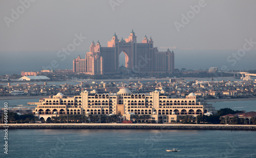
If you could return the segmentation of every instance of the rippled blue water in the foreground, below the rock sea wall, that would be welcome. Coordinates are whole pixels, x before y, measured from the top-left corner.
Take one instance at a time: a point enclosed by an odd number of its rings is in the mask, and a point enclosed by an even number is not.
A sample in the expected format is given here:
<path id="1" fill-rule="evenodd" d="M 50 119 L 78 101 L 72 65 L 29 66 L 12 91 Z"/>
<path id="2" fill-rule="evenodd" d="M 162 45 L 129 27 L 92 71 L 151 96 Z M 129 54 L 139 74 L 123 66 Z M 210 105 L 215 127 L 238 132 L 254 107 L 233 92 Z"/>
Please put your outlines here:
<path id="1" fill-rule="evenodd" d="M 255 157 L 255 131 L 9 130 L 0 157 Z M 4 142 L 0 133 L 0 142 Z M 180 152 L 166 152 L 178 148 Z"/>

